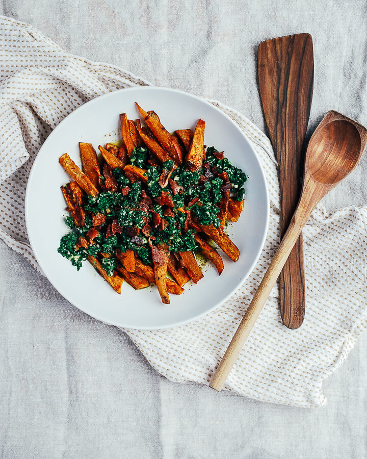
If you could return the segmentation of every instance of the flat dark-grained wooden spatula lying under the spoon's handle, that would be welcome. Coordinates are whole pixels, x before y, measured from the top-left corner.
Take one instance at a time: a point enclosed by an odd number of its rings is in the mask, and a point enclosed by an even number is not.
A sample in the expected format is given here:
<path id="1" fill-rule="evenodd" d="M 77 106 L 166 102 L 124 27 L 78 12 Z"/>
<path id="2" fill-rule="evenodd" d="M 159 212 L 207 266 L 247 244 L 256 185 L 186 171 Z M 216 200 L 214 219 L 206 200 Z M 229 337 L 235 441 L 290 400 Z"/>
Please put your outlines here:
<path id="1" fill-rule="evenodd" d="M 313 90 L 313 47 L 309 34 L 260 43 L 257 71 L 261 103 L 278 160 L 280 232 L 284 236 L 301 192 L 302 144 Z M 305 312 L 302 234 L 280 274 L 280 314 L 284 325 L 298 328 Z"/>

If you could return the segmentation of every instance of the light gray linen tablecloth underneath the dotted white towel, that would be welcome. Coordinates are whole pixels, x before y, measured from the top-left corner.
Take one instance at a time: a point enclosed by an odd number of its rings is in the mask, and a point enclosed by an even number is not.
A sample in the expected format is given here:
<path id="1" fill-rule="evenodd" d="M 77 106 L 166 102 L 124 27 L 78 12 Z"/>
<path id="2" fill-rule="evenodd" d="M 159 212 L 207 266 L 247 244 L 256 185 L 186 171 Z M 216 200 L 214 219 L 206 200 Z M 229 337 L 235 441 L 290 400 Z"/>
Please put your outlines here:
<path id="1" fill-rule="evenodd" d="M 313 37 L 310 128 L 329 109 L 367 124 L 367 5 L 352 2 L 3 1 L 65 50 L 152 84 L 221 100 L 264 129 L 260 41 Z M 365 205 L 367 157 L 324 200 Z M 120 330 L 67 303 L 0 242 L 0 456 L 367 457 L 367 336 L 317 410 L 270 405 L 156 373 Z M 62 377 L 60 377 L 62 375 Z"/>

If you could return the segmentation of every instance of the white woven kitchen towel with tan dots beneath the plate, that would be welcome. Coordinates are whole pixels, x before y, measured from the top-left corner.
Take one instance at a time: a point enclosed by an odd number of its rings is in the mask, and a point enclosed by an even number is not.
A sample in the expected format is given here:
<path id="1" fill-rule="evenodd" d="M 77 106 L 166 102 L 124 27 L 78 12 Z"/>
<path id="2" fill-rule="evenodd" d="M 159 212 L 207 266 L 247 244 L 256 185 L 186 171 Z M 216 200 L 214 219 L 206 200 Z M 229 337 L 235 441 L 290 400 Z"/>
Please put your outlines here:
<path id="1" fill-rule="evenodd" d="M 0 17 L 0 237 L 39 269 L 24 223 L 24 192 L 47 135 L 87 100 L 147 85 L 115 66 L 65 53 L 31 25 Z M 267 175 L 271 214 L 253 273 L 229 301 L 187 325 L 124 330 L 150 364 L 173 381 L 208 384 L 279 243 L 279 187 L 271 144 L 246 117 L 216 101 L 244 131 Z M 261 312 L 225 389 L 295 406 L 326 403 L 322 382 L 367 327 L 367 208 L 327 214 L 319 206 L 304 230 L 307 313 L 302 327 L 281 323 L 278 290 Z"/>

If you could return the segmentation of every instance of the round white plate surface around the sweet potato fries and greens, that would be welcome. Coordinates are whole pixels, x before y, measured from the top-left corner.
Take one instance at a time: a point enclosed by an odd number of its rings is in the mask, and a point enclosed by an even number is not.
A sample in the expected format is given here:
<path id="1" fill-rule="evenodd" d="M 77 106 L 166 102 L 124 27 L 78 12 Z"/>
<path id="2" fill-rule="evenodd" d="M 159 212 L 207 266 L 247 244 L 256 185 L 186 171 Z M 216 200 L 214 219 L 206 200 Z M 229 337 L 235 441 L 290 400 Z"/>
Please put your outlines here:
<path id="1" fill-rule="evenodd" d="M 58 252 L 67 233 L 65 201 L 60 187 L 69 176 L 59 164 L 67 152 L 81 165 L 78 142 L 99 144 L 120 139 L 119 114 L 138 118 L 135 101 L 145 110 L 155 110 L 168 131 L 195 127 L 205 120 L 204 143 L 214 145 L 249 176 L 245 208 L 237 223 L 226 232 L 240 249 L 240 259 L 231 262 L 223 254 L 224 271 L 218 276 L 209 263 L 204 278 L 185 286 L 182 295 L 170 295 L 162 304 L 158 290 L 135 291 L 126 282 L 121 295 L 84 262 L 80 271 Z M 191 94 L 167 88 L 122 89 L 97 97 L 72 112 L 49 135 L 33 164 L 25 196 L 25 219 L 32 249 L 44 274 L 68 301 L 106 323 L 141 329 L 168 328 L 194 320 L 226 301 L 243 284 L 263 248 L 269 219 L 269 197 L 264 172 L 250 143 L 221 110 Z"/>

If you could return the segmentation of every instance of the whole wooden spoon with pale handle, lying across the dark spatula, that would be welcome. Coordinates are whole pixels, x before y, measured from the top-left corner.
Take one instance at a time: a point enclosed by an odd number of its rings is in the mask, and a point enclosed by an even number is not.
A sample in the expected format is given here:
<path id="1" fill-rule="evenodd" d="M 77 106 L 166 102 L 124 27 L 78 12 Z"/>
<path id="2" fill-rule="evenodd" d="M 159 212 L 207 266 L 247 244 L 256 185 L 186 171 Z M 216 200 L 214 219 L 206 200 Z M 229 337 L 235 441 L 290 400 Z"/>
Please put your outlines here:
<path id="1" fill-rule="evenodd" d="M 297 209 L 257 292 L 226 350 L 210 387 L 220 391 L 261 309 L 320 199 L 357 166 L 367 142 L 367 130 L 346 116 L 328 112 L 313 133 L 306 151 L 303 187 Z"/>

